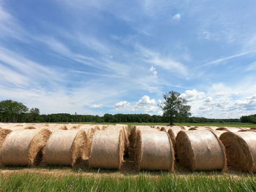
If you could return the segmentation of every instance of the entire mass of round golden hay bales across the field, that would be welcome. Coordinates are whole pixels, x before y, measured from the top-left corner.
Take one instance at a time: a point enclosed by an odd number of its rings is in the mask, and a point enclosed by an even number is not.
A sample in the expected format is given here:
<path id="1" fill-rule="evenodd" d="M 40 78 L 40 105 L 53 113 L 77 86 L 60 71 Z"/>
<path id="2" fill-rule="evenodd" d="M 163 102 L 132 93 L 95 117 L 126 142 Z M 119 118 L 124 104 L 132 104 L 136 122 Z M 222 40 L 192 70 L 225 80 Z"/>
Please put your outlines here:
<path id="1" fill-rule="evenodd" d="M 129 143 L 129 141 L 131 143 Z M 121 169 L 134 148 L 138 170 L 225 170 L 256 172 L 253 128 L 0 123 L 2 165 L 75 165 Z M 129 152 L 129 153 L 128 153 Z M 130 154 L 131 155 L 131 154 Z"/>

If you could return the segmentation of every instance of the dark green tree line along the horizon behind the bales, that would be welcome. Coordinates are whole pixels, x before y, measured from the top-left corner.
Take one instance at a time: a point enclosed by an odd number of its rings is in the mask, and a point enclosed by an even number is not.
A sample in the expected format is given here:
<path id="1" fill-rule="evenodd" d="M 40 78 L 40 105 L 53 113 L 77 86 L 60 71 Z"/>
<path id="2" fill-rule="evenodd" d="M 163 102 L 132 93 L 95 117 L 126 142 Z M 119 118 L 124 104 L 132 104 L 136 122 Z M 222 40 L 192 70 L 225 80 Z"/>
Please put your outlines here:
<path id="1" fill-rule="evenodd" d="M 249 115 L 253 116 L 253 115 Z M 172 117 L 173 123 L 255 123 L 253 118 L 243 116 L 241 119 L 214 119 L 188 117 L 176 113 Z M 256 120 L 256 115 L 253 116 Z M 75 122 L 96 122 L 96 123 L 170 123 L 168 115 L 148 115 L 148 114 L 105 114 L 99 115 L 71 115 L 68 113 L 56 113 L 40 115 L 38 108 L 29 109 L 18 101 L 0 101 L 0 122 L 6 123 L 75 123 Z"/>

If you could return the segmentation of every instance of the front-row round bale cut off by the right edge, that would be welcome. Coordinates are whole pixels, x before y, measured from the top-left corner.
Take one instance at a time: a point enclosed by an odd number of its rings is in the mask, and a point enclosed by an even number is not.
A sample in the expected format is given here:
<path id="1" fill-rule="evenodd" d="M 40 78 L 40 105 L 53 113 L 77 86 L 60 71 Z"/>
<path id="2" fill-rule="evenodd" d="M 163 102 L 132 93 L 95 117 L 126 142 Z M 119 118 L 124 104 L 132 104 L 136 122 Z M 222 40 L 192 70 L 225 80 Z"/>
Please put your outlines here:
<path id="1" fill-rule="evenodd" d="M 256 132 L 226 132 L 219 139 L 225 146 L 228 166 L 256 172 Z"/>

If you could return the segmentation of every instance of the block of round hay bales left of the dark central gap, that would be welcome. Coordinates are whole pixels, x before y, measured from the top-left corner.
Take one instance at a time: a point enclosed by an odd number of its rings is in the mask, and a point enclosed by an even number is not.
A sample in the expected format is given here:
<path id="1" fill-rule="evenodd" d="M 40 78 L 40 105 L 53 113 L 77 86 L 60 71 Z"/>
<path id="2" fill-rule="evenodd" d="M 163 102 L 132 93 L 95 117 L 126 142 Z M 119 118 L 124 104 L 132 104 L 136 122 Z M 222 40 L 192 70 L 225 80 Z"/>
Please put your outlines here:
<path id="1" fill-rule="evenodd" d="M 0 164 L 73 166 L 89 161 L 91 167 L 118 169 L 123 161 L 118 154 L 127 150 L 127 141 L 124 125 L 1 123 Z"/>

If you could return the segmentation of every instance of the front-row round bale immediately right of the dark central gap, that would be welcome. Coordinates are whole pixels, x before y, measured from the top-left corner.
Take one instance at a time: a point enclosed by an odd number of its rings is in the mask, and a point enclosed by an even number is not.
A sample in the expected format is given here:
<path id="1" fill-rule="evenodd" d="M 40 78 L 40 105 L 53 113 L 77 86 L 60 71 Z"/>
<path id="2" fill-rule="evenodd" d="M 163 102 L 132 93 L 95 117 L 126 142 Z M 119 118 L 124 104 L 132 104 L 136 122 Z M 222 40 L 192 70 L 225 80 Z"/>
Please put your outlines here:
<path id="1" fill-rule="evenodd" d="M 138 131 L 135 148 L 135 164 L 138 170 L 174 169 L 174 151 L 165 131 Z"/>

